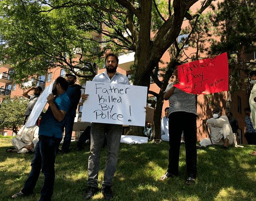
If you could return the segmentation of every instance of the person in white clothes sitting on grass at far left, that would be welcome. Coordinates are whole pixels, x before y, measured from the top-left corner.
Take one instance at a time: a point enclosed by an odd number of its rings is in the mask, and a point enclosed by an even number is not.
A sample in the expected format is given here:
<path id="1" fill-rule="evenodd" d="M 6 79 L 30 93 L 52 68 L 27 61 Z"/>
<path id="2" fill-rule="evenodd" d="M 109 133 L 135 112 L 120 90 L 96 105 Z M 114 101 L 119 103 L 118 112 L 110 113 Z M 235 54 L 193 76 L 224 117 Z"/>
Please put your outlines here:
<path id="1" fill-rule="evenodd" d="M 35 145 L 39 141 L 38 139 L 39 127 L 37 125 L 31 127 L 25 127 L 25 125 L 19 130 L 17 136 L 12 139 L 12 145 L 15 149 L 12 152 L 27 153 L 34 151 Z"/>

